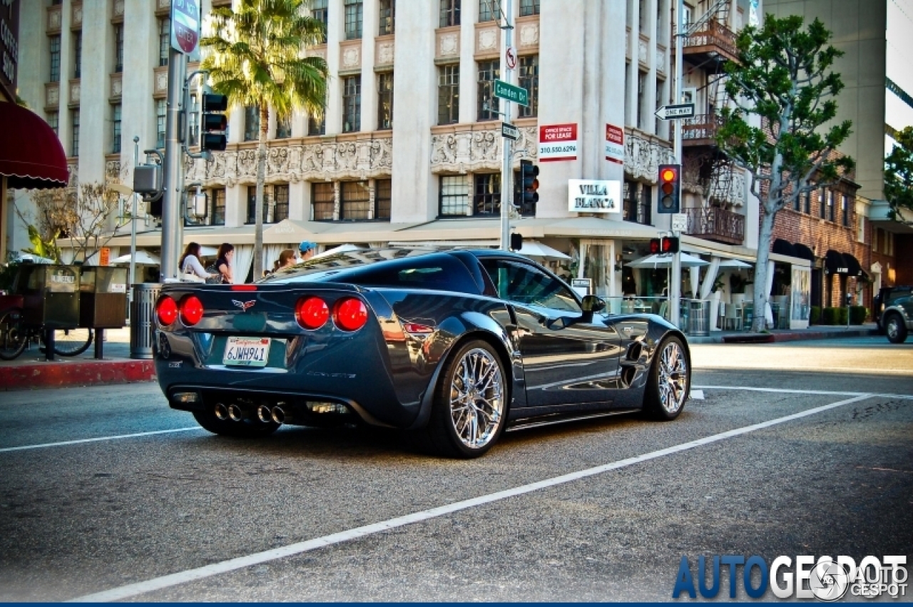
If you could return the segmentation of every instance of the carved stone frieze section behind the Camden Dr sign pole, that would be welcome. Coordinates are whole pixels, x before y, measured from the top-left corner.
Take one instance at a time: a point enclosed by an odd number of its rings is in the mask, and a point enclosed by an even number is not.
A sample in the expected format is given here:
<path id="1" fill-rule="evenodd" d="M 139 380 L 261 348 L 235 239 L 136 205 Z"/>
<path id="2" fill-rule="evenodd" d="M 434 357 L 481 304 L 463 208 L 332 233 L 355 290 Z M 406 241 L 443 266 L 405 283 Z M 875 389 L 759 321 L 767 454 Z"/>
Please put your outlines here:
<path id="1" fill-rule="evenodd" d="M 501 168 L 501 143 L 498 129 L 485 131 L 451 131 L 431 136 L 431 171 L 433 173 L 476 173 Z M 539 152 L 537 127 L 520 127 L 514 142 L 514 164 L 520 159 L 535 160 Z"/>

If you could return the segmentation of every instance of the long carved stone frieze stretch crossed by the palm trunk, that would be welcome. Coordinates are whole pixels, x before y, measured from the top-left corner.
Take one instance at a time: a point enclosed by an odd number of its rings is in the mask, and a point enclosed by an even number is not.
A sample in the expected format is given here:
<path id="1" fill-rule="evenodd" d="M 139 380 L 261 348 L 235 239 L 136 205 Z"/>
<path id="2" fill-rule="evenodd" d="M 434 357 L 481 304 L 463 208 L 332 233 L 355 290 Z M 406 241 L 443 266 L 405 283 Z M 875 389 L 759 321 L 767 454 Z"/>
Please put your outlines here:
<path id="1" fill-rule="evenodd" d="M 256 148 L 213 154 L 213 160 L 184 158 L 187 181 L 234 186 L 257 181 Z M 298 183 L 389 177 L 393 139 L 356 139 L 316 143 L 271 142 L 267 150 L 268 183 Z"/>

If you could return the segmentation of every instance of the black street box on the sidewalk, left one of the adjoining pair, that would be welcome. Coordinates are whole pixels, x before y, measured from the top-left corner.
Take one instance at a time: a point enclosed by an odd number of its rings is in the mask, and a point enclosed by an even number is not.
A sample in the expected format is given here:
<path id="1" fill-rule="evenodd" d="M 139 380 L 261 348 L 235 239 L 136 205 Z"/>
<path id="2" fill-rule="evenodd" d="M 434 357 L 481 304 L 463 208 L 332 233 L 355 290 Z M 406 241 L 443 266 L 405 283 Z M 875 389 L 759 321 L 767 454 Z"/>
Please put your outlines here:
<path id="1" fill-rule="evenodd" d="M 26 325 L 46 330 L 79 327 L 78 266 L 20 266 L 17 290 Z"/>

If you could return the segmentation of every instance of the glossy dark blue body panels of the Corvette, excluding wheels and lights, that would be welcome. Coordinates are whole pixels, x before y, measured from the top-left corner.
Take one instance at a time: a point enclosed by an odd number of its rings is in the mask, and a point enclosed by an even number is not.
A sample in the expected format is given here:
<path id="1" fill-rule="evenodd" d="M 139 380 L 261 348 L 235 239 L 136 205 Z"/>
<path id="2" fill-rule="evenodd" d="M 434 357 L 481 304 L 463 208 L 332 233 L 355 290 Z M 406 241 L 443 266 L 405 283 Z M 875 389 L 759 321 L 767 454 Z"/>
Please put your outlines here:
<path id="1" fill-rule="evenodd" d="M 292 415 L 293 423 L 307 424 L 315 420 L 307 403 L 343 403 L 368 424 L 417 428 L 427 423 L 443 361 L 457 344 L 480 339 L 501 358 L 509 376 L 509 423 L 519 423 L 638 409 L 660 340 L 673 333 L 685 341 L 652 315 L 586 319 L 584 313 L 580 319 L 498 298 L 479 259 L 534 265 L 524 257 L 498 251 L 428 255 L 447 256 L 447 264 L 458 260 L 472 277 L 462 284 L 475 285 L 474 292 L 359 286 L 331 282 L 331 274 L 318 282 L 262 281 L 252 291 L 164 286 L 162 297 L 180 301 L 192 293 L 205 313 L 193 327 L 180 319 L 159 327 L 155 365 L 163 392 L 174 408 L 185 410 L 216 400 L 240 399 L 248 408 L 283 402 L 303 412 Z M 345 331 L 330 320 L 320 329 L 303 329 L 294 312 L 306 296 L 323 298 L 330 309 L 338 299 L 360 298 L 367 324 Z M 271 338 L 268 365 L 226 367 L 229 336 Z M 198 392 L 202 400 L 177 403 L 175 392 Z"/>

